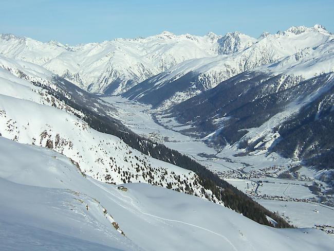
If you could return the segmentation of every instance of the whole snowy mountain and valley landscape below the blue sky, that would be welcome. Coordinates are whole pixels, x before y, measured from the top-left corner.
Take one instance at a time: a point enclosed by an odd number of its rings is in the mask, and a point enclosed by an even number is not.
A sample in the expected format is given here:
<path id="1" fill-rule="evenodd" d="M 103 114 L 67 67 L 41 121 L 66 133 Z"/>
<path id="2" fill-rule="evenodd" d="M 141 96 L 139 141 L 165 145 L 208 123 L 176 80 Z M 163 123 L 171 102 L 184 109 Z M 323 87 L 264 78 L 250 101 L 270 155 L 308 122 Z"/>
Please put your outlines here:
<path id="1" fill-rule="evenodd" d="M 334 34 L 281 28 L 0 34 L 0 250 L 330 250 Z"/>

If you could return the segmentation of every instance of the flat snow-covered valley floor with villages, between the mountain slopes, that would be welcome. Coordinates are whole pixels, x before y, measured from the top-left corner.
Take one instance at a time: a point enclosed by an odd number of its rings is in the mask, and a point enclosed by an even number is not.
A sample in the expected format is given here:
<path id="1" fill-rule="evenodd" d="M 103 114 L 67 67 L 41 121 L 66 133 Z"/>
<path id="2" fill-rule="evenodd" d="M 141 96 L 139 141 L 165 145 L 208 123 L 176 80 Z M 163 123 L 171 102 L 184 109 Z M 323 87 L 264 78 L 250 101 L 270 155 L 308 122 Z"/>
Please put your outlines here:
<path id="1" fill-rule="evenodd" d="M 151 110 L 149 105 L 115 96 L 103 97 L 103 100 L 118 107 L 118 119 L 132 131 L 196 159 L 291 224 L 334 226 L 334 208 L 317 202 L 319 197 L 309 189 L 314 183 L 321 191 L 326 188 L 326 184 L 314 179 L 316 173 L 312 170 L 302 167 L 298 180 L 277 178 L 299 163 L 275 153 L 235 157 L 235 147 L 215 149 L 202 139 L 183 135 L 179 131 L 186 126 L 173 118 L 155 116 L 157 111 Z"/>

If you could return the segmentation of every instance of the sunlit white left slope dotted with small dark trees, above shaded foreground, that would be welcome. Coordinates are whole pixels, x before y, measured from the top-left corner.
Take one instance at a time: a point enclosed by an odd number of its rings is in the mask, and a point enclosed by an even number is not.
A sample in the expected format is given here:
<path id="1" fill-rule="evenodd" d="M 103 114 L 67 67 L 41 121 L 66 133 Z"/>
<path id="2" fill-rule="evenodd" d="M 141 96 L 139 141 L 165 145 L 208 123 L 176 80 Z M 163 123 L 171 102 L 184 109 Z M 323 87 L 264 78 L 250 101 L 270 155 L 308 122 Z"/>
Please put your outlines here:
<path id="1" fill-rule="evenodd" d="M 45 77 L 52 75 L 49 71 L 36 65 L 32 70 L 30 63 L 4 58 L 0 63 L 9 65 L 13 72 L 21 69 L 18 73 L 24 78 L 0 68 L 0 133 L 3 137 L 60 152 L 99 181 L 144 182 L 181 191 L 189 187 L 205 197 L 206 192 L 202 192 L 194 172 L 146 156 L 116 136 L 91 129 L 77 117 L 85 116 L 80 111 L 25 80 L 39 78 L 52 84 Z M 210 198 L 211 191 L 207 193 Z"/>

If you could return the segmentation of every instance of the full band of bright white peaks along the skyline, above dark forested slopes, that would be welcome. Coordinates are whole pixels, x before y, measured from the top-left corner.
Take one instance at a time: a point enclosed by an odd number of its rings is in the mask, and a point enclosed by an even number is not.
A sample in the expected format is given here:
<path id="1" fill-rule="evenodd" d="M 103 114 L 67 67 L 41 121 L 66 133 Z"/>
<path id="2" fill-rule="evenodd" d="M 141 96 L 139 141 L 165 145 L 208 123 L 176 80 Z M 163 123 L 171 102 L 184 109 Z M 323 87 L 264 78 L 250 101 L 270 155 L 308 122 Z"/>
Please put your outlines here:
<path id="1" fill-rule="evenodd" d="M 291 27 L 274 35 L 263 33 L 258 39 L 240 32 L 225 36 L 210 32 L 199 37 L 164 31 L 148 38 L 115 39 L 77 46 L 2 34 L 0 54 L 42 65 L 95 93 L 121 94 L 158 74 L 161 75 L 150 80 L 154 83 L 150 88 L 180 78 L 182 82 L 194 82 L 195 85 L 183 87 L 187 91 L 173 87 L 177 90 L 165 101 L 168 106 L 173 99 L 187 99 L 242 71 L 274 62 L 305 47 L 317 46 L 328 37 L 331 35 L 320 25 Z M 227 56 L 236 52 L 239 56 Z M 140 87 L 141 92 L 147 88 Z"/>

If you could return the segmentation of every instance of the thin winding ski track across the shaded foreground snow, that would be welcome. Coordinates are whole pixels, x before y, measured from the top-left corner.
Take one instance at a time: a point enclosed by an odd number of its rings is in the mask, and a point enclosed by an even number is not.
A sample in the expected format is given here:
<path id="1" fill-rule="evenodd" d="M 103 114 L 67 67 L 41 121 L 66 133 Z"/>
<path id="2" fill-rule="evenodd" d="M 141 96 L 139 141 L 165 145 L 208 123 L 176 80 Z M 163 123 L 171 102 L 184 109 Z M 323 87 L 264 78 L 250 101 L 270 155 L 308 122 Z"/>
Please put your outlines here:
<path id="1" fill-rule="evenodd" d="M 107 193 L 109 194 L 112 194 L 115 196 L 114 193 L 110 192 L 109 190 L 107 190 L 105 187 L 101 186 L 98 182 L 94 181 L 94 180 L 91 180 L 92 183 L 94 183 L 95 185 L 97 185 L 98 187 L 100 187 L 101 189 L 103 189 L 104 191 L 106 191 Z M 208 232 L 211 232 L 211 234 L 214 234 L 214 235 L 217 235 L 219 237 L 221 237 L 222 239 L 224 239 L 226 242 L 228 242 L 232 247 L 233 247 L 233 250 L 237 251 L 237 248 L 232 244 L 232 242 L 225 236 L 223 235 L 220 235 L 218 234 L 217 232 L 214 232 L 214 231 L 211 231 L 210 229 L 207 229 L 207 228 L 204 228 L 204 227 L 201 227 L 201 226 L 197 226 L 197 225 L 194 225 L 194 224 L 191 224 L 191 223 L 188 223 L 188 222 L 183 222 L 183 221 L 178 221 L 178 220 L 172 220 L 172 219 L 166 219 L 166 218 L 163 218 L 163 217 L 159 217 L 159 216 L 155 216 L 154 214 L 151 214 L 151 213 L 147 213 L 147 212 L 144 212 L 142 211 L 133 201 L 133 199 L 129 196 L 126 196 L 124 194 L 122 194 L 122 192 L 119 192 L 119 194 L 123 197 L 123 198 L 128 198 L 130 199 L 130 201 L 127 201 L 127 200 L 122 200 L 124 202 L 127 202 L 127 203 L 131 203 L 131 205 L 136 208 L 138 210 L 138 212 L 146 215 L 146 216 L 150 216 L 150 217 L 153 217 L 153 218 L 156 218 L 156 219 L 160 219 L 160 220 L 163 220 L 163 221 L 169 221 L 169 222 L 178 222 L 178 223 L 182 223 L 182 224 L 185 224 L 185 225 L 189 225 L 189 226 L 193 226 L 193 227 L 196 227 L 196 228 L 199 228 L 199 229 L 202 229 L 202 230 L 205 230 L 205 231 L 208 231 Z M 115 203 L 117 203 L 119 206 L 123 207 L 124 209 L 128 209 L 127 207 L 119 204 L 118 202 L 116 202 L 114 199 L 110 198 L 110 200 L 114 201 Z M 120 198 L 119 198 L 120 199 Z"/>

